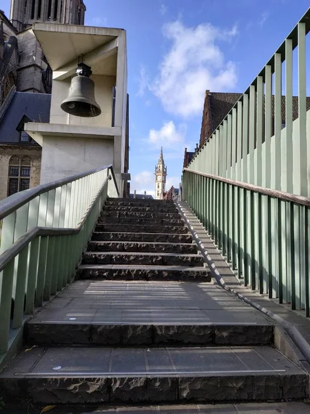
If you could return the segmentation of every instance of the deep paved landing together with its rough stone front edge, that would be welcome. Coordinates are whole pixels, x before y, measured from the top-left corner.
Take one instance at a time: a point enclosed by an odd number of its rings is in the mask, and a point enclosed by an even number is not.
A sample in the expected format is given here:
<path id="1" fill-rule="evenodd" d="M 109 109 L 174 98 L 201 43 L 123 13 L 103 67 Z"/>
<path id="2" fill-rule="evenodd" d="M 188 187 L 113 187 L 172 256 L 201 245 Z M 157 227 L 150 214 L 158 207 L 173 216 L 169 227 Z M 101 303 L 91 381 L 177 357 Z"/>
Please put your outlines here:
<path id="1" fill-rule="evenodd" d="M 31 345 L 267 345 L 273 326 L 209 283 L 77 281 L 27 324 Z"/>

